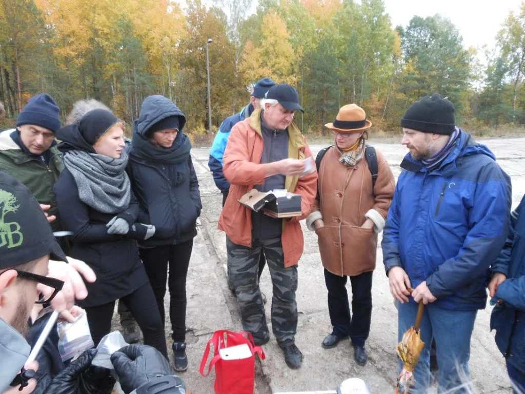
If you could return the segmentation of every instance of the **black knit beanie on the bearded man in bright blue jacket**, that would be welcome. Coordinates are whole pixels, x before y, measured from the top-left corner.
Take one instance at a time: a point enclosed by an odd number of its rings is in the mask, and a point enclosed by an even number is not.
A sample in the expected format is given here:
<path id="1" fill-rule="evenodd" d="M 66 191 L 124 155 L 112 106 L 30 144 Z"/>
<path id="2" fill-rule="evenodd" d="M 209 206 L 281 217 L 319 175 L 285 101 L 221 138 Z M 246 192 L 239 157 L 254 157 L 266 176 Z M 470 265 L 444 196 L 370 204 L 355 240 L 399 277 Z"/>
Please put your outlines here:
<path id="1" fill-rule="evenodd" d="M 438 94 L 413 103 L 401 119 L 401 127 L 450 136 L 456 127 L 454 105 Z"/>

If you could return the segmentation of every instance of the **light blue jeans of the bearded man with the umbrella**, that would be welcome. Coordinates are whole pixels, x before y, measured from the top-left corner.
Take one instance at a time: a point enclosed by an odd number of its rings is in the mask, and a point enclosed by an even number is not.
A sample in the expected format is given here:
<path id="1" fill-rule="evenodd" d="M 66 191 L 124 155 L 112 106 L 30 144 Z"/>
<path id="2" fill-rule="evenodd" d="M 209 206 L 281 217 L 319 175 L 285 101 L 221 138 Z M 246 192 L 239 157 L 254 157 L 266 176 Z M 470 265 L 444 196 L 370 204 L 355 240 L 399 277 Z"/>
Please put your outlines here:
<path id="1" fill-rule="evenodd" d="M 474 329 L 477 310 L 450 310 L 433 304 L 425 305 L 421 322 L 421 339 L 425 347 L 414 371 L 416 385 L 411 393 L 426 393 L 430 386 L 430 344 L 436 341 L 436 358 L 439 366 L 438 393 L 454 390 L 454 394 L 467 394 L 470 387 L 470 337 Z M 415 324 L 417 304 L 399 304 L 398 340 Z M 403 364 L 400 361 L 400 371 Z M 462 385 L 466 385 L 461 387 Z"/>

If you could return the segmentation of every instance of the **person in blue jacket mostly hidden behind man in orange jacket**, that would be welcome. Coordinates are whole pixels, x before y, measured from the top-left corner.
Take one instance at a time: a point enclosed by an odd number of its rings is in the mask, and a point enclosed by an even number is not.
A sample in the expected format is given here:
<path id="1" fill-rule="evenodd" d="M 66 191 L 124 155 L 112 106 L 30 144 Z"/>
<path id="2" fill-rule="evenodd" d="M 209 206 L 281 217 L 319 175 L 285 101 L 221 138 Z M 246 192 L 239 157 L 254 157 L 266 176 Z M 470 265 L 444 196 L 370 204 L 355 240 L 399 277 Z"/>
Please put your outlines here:
<path id="1" fill-rule="evenodd" d="M 270 89 L 274 85 L 275 82 L 268 77 L 258 80 L 254 88 L 251 89 L 249 104 L 246 107 L 244 107 L 239 113 L 236 113 L 235 115 L 224 119 L 224 121 L 220 123 L 219 131 L 217 132 L 217 135 L 213 140 L 212 149 L 209 151 L 208 167 L 213 173 L 213 180 L 215 181 L 215 185 L 220 190 L 220 192 L 223 193 L 223 206 L 226 202 L 226 198 L 228 197 L 229 192 L 229 182 L 226 178 L 224 178 L 223 173 L 223 156 L 224 150 L 226 149 L 226 143 L 228 142 L 229 134 L 232 132 L 232 128 L 237 122 L 249 118 L 251 113 L 256 108 L 260 108 L 262 98 L 264 98 L 268 89 Z M 264 256 L 264 252 L 262 252 L 261 250 L 261 258 L 259 261 L 259 278 L 262 274 L 262 269 L 264 269 L 265 265 L 266 257 Z M 227 275 L 228 285 L 230 287 L 230 290 L 233 291 L 232 283 L 229 280 L 229 267 Z M 262 300 L 266 303 L 265 294 L 261 293 L 261 295 Z"/>

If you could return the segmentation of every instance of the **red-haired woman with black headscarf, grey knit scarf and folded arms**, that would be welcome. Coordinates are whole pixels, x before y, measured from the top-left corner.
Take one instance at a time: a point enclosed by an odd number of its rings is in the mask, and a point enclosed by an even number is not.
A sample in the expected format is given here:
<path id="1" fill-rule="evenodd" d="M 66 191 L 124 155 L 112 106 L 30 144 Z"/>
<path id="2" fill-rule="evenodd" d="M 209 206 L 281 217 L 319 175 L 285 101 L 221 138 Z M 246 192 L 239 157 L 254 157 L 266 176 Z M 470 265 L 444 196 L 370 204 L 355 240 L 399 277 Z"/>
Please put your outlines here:
<path id="1" fill-rule="evenodd" d="M 70 255 L 97 274 L 95 283 L 86 283 L 88 297 L 78 302 L 86 309 L 95 345 L 110 332 L 120 298 L 137 320 L 144 344 L 167 358 L 164 321 L 136 241 L 148 239 L 155 229 L 137 223 L 139 205 L 125 172 L 123 128 L 113 113 L 95 109 L 57 132 L 66 167 L 55 183 L 58 210 L 64 229 L 74 233 Z"/>

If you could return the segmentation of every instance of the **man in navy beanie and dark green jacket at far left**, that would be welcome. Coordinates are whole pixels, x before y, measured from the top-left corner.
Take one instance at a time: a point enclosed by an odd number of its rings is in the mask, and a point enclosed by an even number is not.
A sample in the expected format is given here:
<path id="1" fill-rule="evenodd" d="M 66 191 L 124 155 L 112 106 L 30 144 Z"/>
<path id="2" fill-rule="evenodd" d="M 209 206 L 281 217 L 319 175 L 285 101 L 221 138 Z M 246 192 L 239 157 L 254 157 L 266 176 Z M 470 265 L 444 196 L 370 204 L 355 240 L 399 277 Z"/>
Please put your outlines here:
<path id="1" fill-rule="evenodd" d="M 60 126 L 56 102 L 42 93 L 27 102 L 16 119 L 15 130 L 0 133 L 0 169 L 25 184 L 44 205 L 54 232 L 61 231 L 53 192 L 53 185 L 64 170 L 55 141 Z M 62 240 L 60 246 L 67 248 L 66 241 Z"/>

